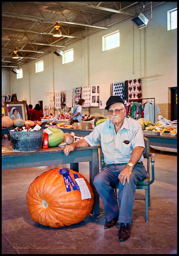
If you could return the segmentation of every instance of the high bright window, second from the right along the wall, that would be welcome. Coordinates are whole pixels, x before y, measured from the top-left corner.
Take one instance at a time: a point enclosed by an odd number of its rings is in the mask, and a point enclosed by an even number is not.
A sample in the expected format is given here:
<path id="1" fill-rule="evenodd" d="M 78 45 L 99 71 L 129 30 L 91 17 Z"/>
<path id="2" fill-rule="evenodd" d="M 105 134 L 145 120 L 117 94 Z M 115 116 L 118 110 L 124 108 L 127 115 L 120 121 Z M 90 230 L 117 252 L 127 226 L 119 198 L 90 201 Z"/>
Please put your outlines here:
<path id="1" fill-rule="evenodd" d="M 119 30 L 102 38 L 103 51 L 119 47 Z"/>

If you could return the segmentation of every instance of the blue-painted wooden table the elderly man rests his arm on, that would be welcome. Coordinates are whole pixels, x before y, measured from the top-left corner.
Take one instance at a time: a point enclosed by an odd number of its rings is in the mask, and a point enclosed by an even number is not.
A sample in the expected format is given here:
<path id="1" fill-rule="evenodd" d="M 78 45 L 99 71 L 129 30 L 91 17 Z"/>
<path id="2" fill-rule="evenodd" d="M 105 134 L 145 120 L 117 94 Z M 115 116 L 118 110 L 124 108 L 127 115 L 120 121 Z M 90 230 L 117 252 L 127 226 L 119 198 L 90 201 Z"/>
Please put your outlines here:
<path id="1" fill-rule="evenodd" d="M 12 146 L 4 145 L 10 152 L 2 153 L 2 169 L 31 168 L 36 166 L 69 164 L 70 169 L 79 171 L 80 162 L 89 162 L 89 184 L 93 189 L 94 205 L 91 214 L 99 214 L 99 195 L 93 185 L 94 177 L 99 173 L 98 148 L 76 148 L 66 156 L 64 146 L 50 147 L 38 152 L 18 153 L 12 151 Z"/>

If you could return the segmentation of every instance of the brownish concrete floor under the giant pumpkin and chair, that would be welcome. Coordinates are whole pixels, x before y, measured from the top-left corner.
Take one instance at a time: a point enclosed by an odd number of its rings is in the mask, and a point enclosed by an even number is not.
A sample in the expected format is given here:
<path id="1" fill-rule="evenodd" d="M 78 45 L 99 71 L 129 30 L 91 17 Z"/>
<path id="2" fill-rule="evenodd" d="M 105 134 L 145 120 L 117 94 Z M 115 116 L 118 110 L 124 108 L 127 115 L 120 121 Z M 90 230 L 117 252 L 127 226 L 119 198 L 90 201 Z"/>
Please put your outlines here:
<path id="1" fill-rule="evenodd" d="M 7 136 L 2 144 L 7 143 Z M 2 170 L 2 254 L 177 254 L 177 153 L 156 151 L 155 181 L 150 187 L 149 222 L 145 201 L 135 200 L 131 237 L 119 242 L 119 225 L 104 229 L 105 213 L 89 215 L 78 224 L 50 228 L 35 223 L 28 212 L 26 193 L 31 182 L 54 165 Z M 89 163 L 79 163 L 89 181 Z M 143 190 L 136 190 L 142 197 Z"/>

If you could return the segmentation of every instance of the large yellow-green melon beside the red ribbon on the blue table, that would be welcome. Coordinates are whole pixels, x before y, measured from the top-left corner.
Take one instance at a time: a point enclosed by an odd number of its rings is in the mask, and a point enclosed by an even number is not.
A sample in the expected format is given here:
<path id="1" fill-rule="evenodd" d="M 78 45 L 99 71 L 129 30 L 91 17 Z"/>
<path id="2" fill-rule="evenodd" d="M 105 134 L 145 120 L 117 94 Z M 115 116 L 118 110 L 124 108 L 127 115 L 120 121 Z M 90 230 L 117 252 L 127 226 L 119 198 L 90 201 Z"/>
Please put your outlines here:
<path id="1" fill-rule="evenodd" d="M 53 133 L 48 135 L 48 146 L 56 147 L 64 141 L 64 133 L 62 130 L 55 127 L 48 127 Z"/>

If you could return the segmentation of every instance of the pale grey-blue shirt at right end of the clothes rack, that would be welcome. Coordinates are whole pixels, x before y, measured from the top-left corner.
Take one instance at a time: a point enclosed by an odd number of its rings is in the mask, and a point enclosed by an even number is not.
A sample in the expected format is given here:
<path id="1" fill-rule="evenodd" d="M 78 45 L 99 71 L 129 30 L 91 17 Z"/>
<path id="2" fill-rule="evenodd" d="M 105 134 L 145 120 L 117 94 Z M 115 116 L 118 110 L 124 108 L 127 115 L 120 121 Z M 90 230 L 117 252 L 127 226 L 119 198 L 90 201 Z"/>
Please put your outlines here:
<path id="1" fill-rule="evenodd" d="M 155 103 L 155 114 L 154 114 L 154 104 L 150 104 L 151 101 L 147 102 L 144 107 L 144 118 L 151 121 L 152 123 L 155 123 L 157 121 L 157 114 L 159 114 L 161 111 L 159 109 L 158 104 Z"/>

